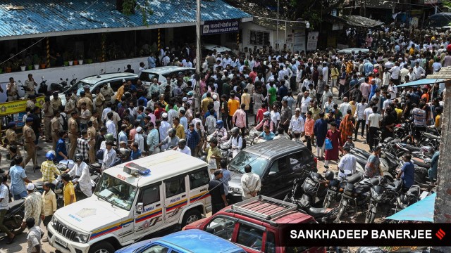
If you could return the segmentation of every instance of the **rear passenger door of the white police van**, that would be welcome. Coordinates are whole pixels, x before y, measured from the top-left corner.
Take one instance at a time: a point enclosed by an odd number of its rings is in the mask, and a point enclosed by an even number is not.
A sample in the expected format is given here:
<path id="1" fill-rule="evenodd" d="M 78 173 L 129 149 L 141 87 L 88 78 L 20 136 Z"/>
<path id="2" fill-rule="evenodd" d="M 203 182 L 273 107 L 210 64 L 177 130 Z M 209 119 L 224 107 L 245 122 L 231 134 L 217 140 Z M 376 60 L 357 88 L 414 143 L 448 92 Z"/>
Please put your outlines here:
<path id="1" fill-rule="evenodd" d="M 164 203 L 164 223 L 177 223 L 183 208 L 187 205 L 188 195 L 184 175 L 166 179 L 163 183 L 165 203 Z"/>

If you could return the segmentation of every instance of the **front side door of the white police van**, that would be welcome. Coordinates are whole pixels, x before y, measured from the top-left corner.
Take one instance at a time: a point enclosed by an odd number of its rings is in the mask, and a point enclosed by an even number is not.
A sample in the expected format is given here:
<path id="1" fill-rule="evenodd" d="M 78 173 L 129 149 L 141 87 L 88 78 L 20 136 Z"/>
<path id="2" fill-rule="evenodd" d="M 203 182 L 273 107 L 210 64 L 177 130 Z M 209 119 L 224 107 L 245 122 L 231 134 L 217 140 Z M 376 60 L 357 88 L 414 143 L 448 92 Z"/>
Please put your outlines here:
<path id="1" fill-rule="evenodd" d="M 163 183 L 158 182 L 140 188 L 137 203 L 142 203 L 141 214 L 136 213 L 134 222 L 134 237 L 149 231 L 156 231 L 163 224 Z"/>

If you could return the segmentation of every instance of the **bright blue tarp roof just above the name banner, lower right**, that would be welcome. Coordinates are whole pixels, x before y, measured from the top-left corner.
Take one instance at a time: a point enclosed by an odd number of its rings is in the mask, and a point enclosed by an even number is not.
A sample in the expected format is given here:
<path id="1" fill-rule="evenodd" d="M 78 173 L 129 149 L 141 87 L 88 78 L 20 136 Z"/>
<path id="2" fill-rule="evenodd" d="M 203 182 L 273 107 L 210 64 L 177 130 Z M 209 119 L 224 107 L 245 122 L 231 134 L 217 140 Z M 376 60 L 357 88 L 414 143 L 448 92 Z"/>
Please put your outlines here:
<path id="1" fill-rule="evenodd" d="M 393 214 L 385 219 L 393 219 L 397 221 L 434 221 L 434 205 L 435 196 L 437 193 L 433 193 L 423 200 L 410 205 L 409 207 L 402 209 L 400 212 Z"/>

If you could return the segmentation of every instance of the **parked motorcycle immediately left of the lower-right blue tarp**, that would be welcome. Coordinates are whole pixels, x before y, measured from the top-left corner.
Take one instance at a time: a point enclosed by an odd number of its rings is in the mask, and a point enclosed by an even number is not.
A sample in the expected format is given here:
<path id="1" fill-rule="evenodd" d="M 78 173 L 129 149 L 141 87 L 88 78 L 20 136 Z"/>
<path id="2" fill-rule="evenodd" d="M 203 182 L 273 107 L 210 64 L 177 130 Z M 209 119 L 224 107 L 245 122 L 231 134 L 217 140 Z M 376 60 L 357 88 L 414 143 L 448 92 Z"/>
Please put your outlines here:
<path id="1" fill-rule="evenodd" d="M 388 214 L 396 203 L 397 197 L 402 190 L 402 180 L 397 179 L 393 183 L 387 182 L 386 178 L 381 179 L 378 185 L 371 186 L 371 197 L 368 211 L 365 216 L 365 223 L 373 223 L 379 209 L 384 214 Z"/>

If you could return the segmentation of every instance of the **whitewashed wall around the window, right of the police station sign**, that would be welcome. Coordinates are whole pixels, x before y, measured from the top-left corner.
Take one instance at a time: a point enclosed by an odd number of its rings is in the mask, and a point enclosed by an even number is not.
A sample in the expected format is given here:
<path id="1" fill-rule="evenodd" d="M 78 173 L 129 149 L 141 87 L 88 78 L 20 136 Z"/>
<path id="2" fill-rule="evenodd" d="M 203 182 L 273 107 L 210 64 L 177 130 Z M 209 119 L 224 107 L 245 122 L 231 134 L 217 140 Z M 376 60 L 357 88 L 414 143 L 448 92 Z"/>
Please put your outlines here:
<path id="1" fill-rule="evenodd" d="M 285 22 L 280 22 L 279 27 L 283 27 L 285 29 Z M 242 23 L 242 48 L 254 47 L 254 45 L 249 44 L 250 30 L 269 32 L 269 41 L 273 47 L 275 47 L 277 42 L 280 44 L 280 48 L 283 48 L 283 44 L 285 44 L 285 30 L 279 30 L 277 37 L 277 32 L 275 30 L 270 30 L 266 27 L 256 25 L 253 22 L 245 22 Z M 288 29 L 287 37 L 288 34 L 292 34 L 290 29 Z M 287 47 L 292 49 L 292 43 L 287 43 Z"/>

